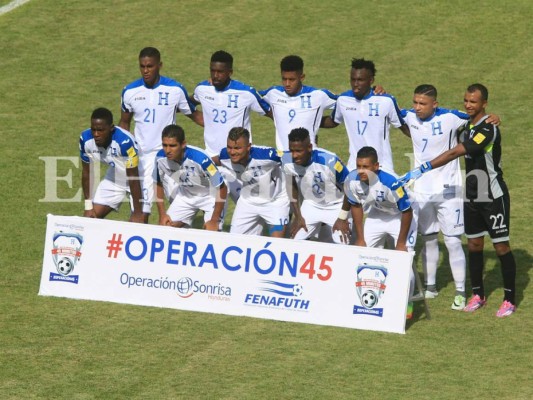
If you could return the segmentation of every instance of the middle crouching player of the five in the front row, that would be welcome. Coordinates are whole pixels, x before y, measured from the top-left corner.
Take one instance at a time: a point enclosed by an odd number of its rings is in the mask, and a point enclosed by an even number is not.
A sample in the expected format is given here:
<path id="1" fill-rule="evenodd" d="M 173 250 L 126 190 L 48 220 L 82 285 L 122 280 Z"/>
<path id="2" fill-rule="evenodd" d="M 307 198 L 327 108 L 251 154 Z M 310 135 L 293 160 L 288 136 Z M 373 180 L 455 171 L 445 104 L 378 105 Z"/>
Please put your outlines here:
<path id="1" fill-rule="evenodd" d="M 247 129 L 232 128 L 227 147 L 222 149 L 217 162 L 227 169 L 229 179 L 240 185 L 239 193 L 234 193 L 238 200 L 230 232 L 258 234 L 258 226 L 264 222 L 270 236 L 284 237 L 289 221 L 289 198 L 276 149 L 253 146 Z M 229 187 L 233 189 L 235 185 Z"/>

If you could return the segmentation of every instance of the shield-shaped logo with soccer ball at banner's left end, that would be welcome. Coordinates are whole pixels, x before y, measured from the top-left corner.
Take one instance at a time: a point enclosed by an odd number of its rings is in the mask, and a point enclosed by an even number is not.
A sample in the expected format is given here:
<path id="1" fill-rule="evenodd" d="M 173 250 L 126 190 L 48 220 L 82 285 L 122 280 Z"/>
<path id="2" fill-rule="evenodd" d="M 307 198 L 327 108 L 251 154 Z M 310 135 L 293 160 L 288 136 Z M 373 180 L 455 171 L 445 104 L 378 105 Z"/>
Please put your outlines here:
<path id="1" fill-rule="evenodd" d="M 52 259 L 57 273 L 50 272 L 51 281 L 78 284 L 79 275 L 73 275 L 81 257 L 83 236 L 79 233 L 55 232 L 52 238 Z"/>

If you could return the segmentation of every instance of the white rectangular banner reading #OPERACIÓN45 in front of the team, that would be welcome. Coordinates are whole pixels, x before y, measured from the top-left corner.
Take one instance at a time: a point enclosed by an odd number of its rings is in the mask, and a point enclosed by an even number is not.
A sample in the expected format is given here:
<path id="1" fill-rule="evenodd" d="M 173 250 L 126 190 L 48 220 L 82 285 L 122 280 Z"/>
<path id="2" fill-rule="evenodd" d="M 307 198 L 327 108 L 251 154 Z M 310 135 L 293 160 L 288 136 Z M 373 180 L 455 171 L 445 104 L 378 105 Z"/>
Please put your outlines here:
<path id="1" fill-rule="evenodd" d="M 412 262 L 392 250 L 49 215 L 39 294 L 405 333 Z"/>

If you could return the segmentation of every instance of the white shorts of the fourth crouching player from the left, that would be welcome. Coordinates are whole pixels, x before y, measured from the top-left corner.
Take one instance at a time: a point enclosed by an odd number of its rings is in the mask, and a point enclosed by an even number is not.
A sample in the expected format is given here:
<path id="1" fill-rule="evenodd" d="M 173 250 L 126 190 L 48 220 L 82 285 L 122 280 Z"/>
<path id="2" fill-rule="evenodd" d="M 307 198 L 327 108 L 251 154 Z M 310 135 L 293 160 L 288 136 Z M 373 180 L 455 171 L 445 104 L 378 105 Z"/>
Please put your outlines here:
<path id="1" fill-rule="evenodd" d="M 319 236 L 319 240 L 326 243 L 335 243 L 332 236 L 331 228 L 339 216 L 339 211 L 342 208 L 342 202 L 333 204 L 329 207 L 318 207 L 314 202 L 309 200 L 302 201 L 300 211 L 302 217 L 305 219 L 307 232 L 300 229 L 294 239 L 306 240 L 315 236 Z M 325 225 L 325 226 L 324 226 Z M 327 228 L 329 227 L 329 231 Z M 338 238 L 338 235 L 335 235 Z"/>

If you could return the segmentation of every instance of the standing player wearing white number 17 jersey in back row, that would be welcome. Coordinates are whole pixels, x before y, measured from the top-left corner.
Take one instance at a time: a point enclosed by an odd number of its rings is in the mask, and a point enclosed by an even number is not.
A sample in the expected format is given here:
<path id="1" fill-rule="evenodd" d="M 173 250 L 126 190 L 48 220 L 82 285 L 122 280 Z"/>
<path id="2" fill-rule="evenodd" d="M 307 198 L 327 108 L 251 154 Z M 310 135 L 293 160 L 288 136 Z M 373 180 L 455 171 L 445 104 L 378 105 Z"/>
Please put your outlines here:
<path id="1" fill-rule="evenodd" d="M 361 147 L 376 149 L 381 168 L 394 173 L 390 145 L 390 125 L 400 128 L 409 136 L 396 100 L 391 95 L 376 95 L 372 89 L 376 67 L 372 61 L 352 60 L 350 73 L 351 90 L 341 93 L 331 116 L 324 117 L 322 127 L 334 128 L 345 124 L 350 143 L 348 169 L 353 170 L 357 152 Z"/>

